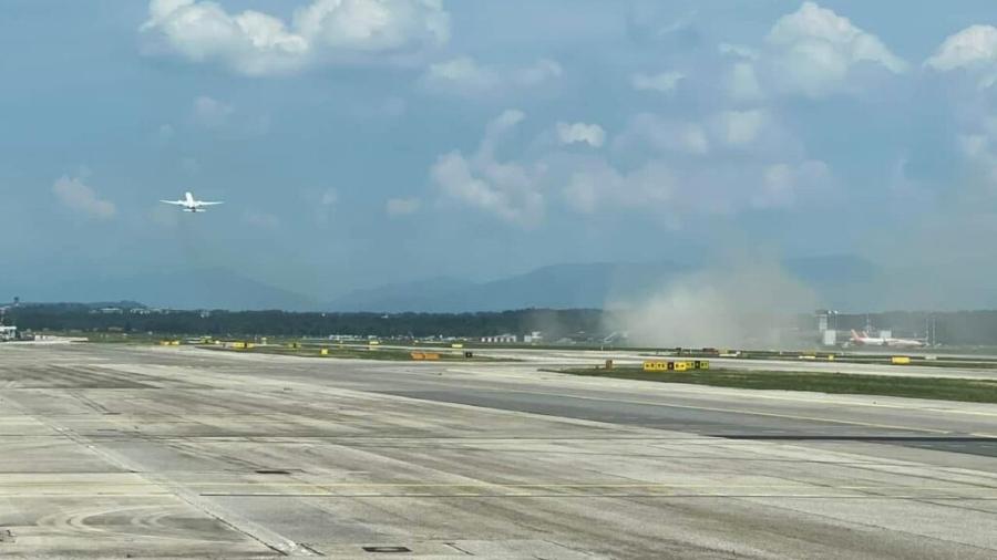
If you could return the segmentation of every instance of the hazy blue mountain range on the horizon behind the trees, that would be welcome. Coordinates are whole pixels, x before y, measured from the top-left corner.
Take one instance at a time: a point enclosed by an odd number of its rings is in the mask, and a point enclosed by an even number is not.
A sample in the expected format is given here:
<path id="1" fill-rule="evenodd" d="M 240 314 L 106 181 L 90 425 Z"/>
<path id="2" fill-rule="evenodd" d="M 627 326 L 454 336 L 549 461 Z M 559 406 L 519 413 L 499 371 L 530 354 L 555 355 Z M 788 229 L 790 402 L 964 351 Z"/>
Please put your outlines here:
<path id="1" fill-rule="evenodd" d="M 787 273 L 813 289 L 829 307 L 854 301 L 855 288 L 877 271 L 853 256 L 789 259 Z M 603 308 L 639 301 L 701 267 L 676 262 L 552 265 L 486 282 L 432 278 L 353 290 L 331 300 L 259 282 L 227 269 L 199 269 L 99 281 L 2 287 L 24 301 L 135 300 L 173 309 L 282 309 L 287 311 L 462 312 L 525 308 Z M 94 288 L 96 287 L 96 288 Z"/>

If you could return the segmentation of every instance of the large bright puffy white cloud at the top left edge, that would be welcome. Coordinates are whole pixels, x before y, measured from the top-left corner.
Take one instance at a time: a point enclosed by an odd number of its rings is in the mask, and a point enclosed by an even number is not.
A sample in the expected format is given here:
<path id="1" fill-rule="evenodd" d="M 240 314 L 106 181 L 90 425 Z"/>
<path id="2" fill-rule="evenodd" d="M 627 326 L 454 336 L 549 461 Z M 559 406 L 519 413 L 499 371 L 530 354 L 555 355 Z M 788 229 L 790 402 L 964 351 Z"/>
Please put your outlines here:
<path id="1" fill-rule="evenodd" d="M 230 14 L 210 1 L 152 0 L 140 31 L 147 53 L 261 76 L 411 55 L 449 40 L 450 15 L 440 0 L 314 0 L 288 24 L 255 10 Z"/>

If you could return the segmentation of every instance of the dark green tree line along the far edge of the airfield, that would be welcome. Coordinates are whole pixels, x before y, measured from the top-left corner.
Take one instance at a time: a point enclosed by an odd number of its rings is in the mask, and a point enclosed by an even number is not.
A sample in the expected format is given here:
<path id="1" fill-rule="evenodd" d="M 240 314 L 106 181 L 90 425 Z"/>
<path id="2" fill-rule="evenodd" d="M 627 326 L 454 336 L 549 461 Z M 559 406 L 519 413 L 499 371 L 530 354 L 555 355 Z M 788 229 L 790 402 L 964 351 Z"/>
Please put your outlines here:
<path id="1" fill-rule="evenodd" d="M 131 305 L 131 307 L 130 307 Z M 103 312 L 101 308 L 113 308 Z M 135 310 L 136 312 L 133 312 Z M 120 304 L 27 304 L 7 309 L 6 322 L 21 331 L 121 331 L 161 335 L 213 336 L 329 336 L 351 334 L 381 338 L 477 338 L 541 331 L 544 341 L 564 338 L 598 342 L 620 321 L 613 311 L 597 309 L 524 309 L 475 313 L 337 313 L 287 311 L 158 311 Z M 788 317 L 785 328 L 818 340 L 816 319 L 801 313 Z M 842 313 L 831 328 L 887 329 L 894 336 L 918 338 L 943 345 L 997 345 L 997 310 L 893 311 Z M 870 329 L 871 328 L 871 329 Z M 813 333 L 806 334 L 806 333 Z M 617 341 L 623 342 L 623 341 Z"/>

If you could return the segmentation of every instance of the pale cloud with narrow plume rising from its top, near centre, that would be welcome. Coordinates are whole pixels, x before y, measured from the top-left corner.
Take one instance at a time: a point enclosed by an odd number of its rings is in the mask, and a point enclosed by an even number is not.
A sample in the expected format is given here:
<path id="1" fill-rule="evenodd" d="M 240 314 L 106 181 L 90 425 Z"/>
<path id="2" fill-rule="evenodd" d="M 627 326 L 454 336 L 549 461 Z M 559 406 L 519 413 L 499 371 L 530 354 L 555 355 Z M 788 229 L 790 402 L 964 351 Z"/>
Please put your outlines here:
<path id="1" fill-rule="evenodd" d="M 506 111 L 489 123 L 477 152 L 465 157 L 460 152 L 442 155 L 430 177 L 449 199 L 471 206 L 523 227 L 539 224 L 544 197 L 538 191 L 539 170 L 496 159 L 497 143 L 522 120 L 520 111 Z"/>

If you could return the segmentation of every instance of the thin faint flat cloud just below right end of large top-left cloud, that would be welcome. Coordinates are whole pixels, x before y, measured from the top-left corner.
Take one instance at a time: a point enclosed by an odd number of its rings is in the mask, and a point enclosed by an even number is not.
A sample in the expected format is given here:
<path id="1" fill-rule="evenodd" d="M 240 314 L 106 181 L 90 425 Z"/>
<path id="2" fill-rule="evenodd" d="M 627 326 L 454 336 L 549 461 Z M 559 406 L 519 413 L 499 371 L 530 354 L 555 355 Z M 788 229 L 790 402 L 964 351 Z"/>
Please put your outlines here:
<path id="1" fill-rule="evenodd" d="M 537 60 L 526 66 L 510 66 L 479 64 L 471 56 L 458 56 L 431 64 L 420 83 L 424 89 L 436 93 L 486 96 L 549 85 L 562 73 L 561 65 L 548 59 Z"/>

